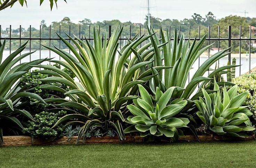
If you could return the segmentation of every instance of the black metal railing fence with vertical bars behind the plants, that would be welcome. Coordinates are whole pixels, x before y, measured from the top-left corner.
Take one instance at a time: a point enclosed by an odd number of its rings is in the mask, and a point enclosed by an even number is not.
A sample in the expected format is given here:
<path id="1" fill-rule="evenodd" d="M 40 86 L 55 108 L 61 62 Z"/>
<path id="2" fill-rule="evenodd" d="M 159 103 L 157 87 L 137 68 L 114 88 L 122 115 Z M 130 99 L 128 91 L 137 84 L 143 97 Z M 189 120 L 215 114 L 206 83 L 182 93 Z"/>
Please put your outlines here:
<path id="1" fill-rule="evenodd" d="M 3 39 L 6 39 L 6 40 L 9 40 L 9 51 L 11 53 L 11 41 L 12 40 L 18 40 L 19 41 L 19 46 L 21 46 L 21 41 L 22 40 L 28 40 L 29 41 L 29 50 L 31 52 L 31 41 L 33 40 L 38 40 L 39 41 L 39 44 L 41 44 L 42 41 L 49 41 L 49 45 L 51 45 L 51 41 L 59 41 L 59 47 L 61 46 L 61 39 L 60 38 L 56 38 L 56 37 L 51 37 L 51 26 L 50 26 L 50 29 L 49 29 L 49 37 L 41 37 L 41 26 L 40 26 L 40 33 L 39 33 L 39 37 L 31 37 L 31 26 L 30 26 L 30 31 L 29 31 L 29 34 L 30 36 L 29 37 L 22 37 L 22 34 L 19 33 L 19 37 L 12 37 L 11 35 L 11 25 L 10 25 L 10 33 L 9 33 L 9 37 L 1 37 L 1 25 L 0 25 L 0 40 L 3 40 Z M 91 26 L 88 27 L 89 28 L 89 32 L 91 32 Z M 121 28 L 121 26 L 120 26 Z M 240 33 L 239 33 L 239 38 L 232 38 L 231 37 L 231 34 L 232 34 L 232 27 L 229 26 L 228 27 L 228 36 L 226 38 L 220 38 L 220 26 L 218 26 L 218 37 L 217 38 L 210 38 L 210 26 L 208 26 L 208 37 L 206 38 L 206 41 L 208 41 L 208 45 L 210 44 L 210 41 L 217 41 L 217 45 L 218 45 L 218 51 L 220 50 L 220 42 L 221 41 L 226 41 L 228 43 L 228 47 L 231 46 L 231 41 L 239 41 L 239 63 L 241 64 L 241 43 L 242 41 L 249 41 L 249 63 L 248 63 L 248 71 L 249 73 L 251 72 L 251 42 L 252 41 L 256 41 L 256 38 L 252 38 L 252 33 L 251 33 L 251 29 L 252 26 L 250 26 L 249 28 L 249 38 L 242 38 L 241 37 L 241 26 L 240 26 Z M 100 29 L 100 27 L 99 27 Z M 112 26 L 109 25 L 109 28 L 108 28 L 108 37 L 107 39 L 111 36 L 111 29 L 112 29 Z M 171 32 L 171 26 L 169 26 L 169 33 Z M 189 26 L 188 27 L 189 29 L 189 36 L 190 36 L 190 33 L 191 33 L 191 27 Z M 22 27 L 19 26 L 19 32 L 21 32 L 22 30 Z M 177 33 L 178 33 L 178 37 L 181 36 L 181 26 L 179 26 L 177 28 Z M 200 37 L 200 26 L 198 26 L 198 35 L 196 37 L 196 40 L 200 40 L 201 37 Z M 59 25 L 59 30 L 56 30 L 56 32 L 58 33 L 61 33 L 61 25 Z M 71 35 L 71 26 L 69 26 L 69 35 Z M 142 26 L 139 26 L 139 36 L 142 35 Z M 79 38 L 80 39 L 84 39 L 84 37 L 81 36 L 81 26 L 79 26 Z M 128 36 L 129 39 L 132 39 L 133 37 L 131 37 L 131 26 L 130 26 L 130 35 Z M 161 35 L 159 35 L 159 39 L 161 38 Z M 64 38 L 68 41 L 70 41 L 69 38 Z M 87 38 L 89 41 L 93 40 L 93 38 L 90 36 L 90 33 L 89 33 L 89 37 Z M 171 38 L 173 39 L 173 38 Z M 194 40 L 195 38 L 185 38 L 185 40 Z M 120 48 L 121 48 L 121 43 L 123 40 L 127 40 L 127 38 L 125 37 L 121 37 L 120 39 Z M 229 49 L 229 52 L 231 51 L 231 48 Z M 51 58 L 51 51 L 49 51 L 49 57 Z M 210 57 L 210 48 L 208 49 L 208 57 Z M 39 58 L 41 59 L 41 45 L 39 45 Z M 228 55 L 228 60 L 229 62 L 231 62 L 231 54 Z M 30 61 L 31 61 L 31 55 L 30 55 Z M 198 61 L 198 67 L 200 66 L 200 58 L 199 58 L 199 61 Z M 241 67 L 239 68 L 239 76 L 241 74 Z"/>

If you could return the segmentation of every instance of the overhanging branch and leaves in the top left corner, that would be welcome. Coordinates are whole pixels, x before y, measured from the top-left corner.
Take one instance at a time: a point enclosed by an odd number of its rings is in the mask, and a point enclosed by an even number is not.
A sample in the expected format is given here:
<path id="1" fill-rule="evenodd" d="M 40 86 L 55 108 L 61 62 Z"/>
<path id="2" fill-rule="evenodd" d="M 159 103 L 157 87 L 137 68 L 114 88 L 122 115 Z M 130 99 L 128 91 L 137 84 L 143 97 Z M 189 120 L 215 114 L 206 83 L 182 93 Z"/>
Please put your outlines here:
<path id="1" fill-rule="evenodd" d="M 12 7 L 16 2 L 19 2 L 21 6 L 25 5 L 27 6 L 27 0 L 0 0 L 0 11 L 3 9 L 6 9 L 8 7 Z M 40 0 L 40 6 L 42 5 L 44 0 Z M 55 2 L 56 7 L 57 7 L 57 1 L 58 0 L 49 0 L 50 1 L 50 8 L 51 10 L 53 9 L 53 3 Z M 66 0 L 64 0 L 66 2 Z"/>

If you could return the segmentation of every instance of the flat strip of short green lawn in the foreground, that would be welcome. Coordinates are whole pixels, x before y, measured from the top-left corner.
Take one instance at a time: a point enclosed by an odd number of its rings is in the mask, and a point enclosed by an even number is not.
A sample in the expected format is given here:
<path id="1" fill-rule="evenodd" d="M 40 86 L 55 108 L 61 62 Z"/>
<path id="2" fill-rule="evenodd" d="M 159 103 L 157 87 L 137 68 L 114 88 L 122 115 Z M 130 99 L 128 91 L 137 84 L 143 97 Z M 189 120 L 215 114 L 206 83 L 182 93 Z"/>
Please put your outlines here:
<path id="1" fill-rule="evenodd" d="M 255 141 L 0 148 L 0 167 L 255 167 Z"/>

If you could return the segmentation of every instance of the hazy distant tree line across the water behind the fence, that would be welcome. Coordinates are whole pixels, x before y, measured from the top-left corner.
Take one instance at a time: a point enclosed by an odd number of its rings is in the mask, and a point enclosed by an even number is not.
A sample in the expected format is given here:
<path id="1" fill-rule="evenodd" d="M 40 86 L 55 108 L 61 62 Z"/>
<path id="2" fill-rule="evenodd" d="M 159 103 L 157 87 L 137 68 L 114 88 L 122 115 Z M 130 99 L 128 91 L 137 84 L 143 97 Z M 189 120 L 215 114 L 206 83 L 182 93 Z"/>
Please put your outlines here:
<path id="1" fill-rule="evenodd" d="M 225 38 L 228 36 L 228 26 L 232 26 L 232 37 L 233 38 L 238 38 L 239 37 L 239 26 L 242 26 L 242 37 L 249 37 L 249 25 L 255 26 L 256 27 L 256 18 L 245 18 L 245 17 L 239 17 L 239 16 L 227 16 L 225 18 L 221 18 L 219 20 L 216 19 L 214 14 L 212 12 L 208 12 L 205 17 L 202 17 L 199 14 L 194 14 L 192 15 L 191 18 L 183 19 L 183 20 L 177 20 L 177 19 L 164 19 L 161 20 L 160 18 L 155 18 L 153 16 L 150 17 L 151 19 L 151 25 L 153 29 L 157 32 L 157 35 L 159 35 L 159 28 L 160 26 L 162 29 L 166 30 L 169 27 L 171 32 L 170 34 L 174 33 L 175 28 L 179 29 L 180 26 L 180 31 L 181 33 L 184 33 L 185 37 L 189 37 L 189 26 L 190 26 L 190 37 L 195 37 L 199 36 L 199 26 L 200 26 L 200 37 L 208 33 L 208 26 L 210 26 L 210 37 L 211 38 L 217 38 L 218 37 L 218 26 L 220 26 L 220 38 Z M 73 34 L 79 37 L 79 31 L 80 31 L 80 37 L 92 37 L 93 36 L 93 27 L 95 26 L 96 28 L 100 28 L 100 31 L 103 36 L 108 37 L 108 28 L 109 25 L 112 25 L 112 32 L 114 31 L 115 28 L 120 28 L 120 26 L 123 26 L 123 32 L 122 32 L 122 37 L 134 37 L 137 33 L 141 32 L 141 34 L 147 33 L 147 16 L 145 18 L 144 24 L 141 23 L 132 23 L 130 21 L 127 22 L 121 22 L 119 20 L 105 20 L 105 21 L 97 21 L 93 23 L 90 19 L 83 19 L 79 21 L 79 23 L 73 23 L 70 18 L 64 17 L 61 21 L 54 21 L 50 24 L 50 26 L 46 25 L 46 21 L 42 20 L 41 21 L 41 37 L 57 37 L 55 31 L 57 33 L 60 33 L 61 36 L 67 37 L 65 32 L 67 34 L 71 34 L 73 37 Z M 61 25 L 61 32 L 59 32 L 59 26 Z M 79 29 L 80 27 L 80 29 Z M 90 28 L 89 28 L 90 27 Z M 50 32 L 51 28 L 51 34 Z M 6 36 L 8 37 L 10 33 L 10 29 L 2 29 L 1 30 L 1 36 Z M 12 29 L 11 30 L 12 37 L 19 37 L 19 28 L 17 29 Z M 30 36 L 30 28 L 21 28 L 21 36 L 22 37 L 29 37 Z M 39 27 L 31 27 L 31 37 L 39 37 L 40 36 L 40 31 Z M 255 36 L 252 34 L 252 37 Z M 211 41 L 213 43 L 214 41 Z M 39 48 L 39 41 L 37 40 L 32 40 L 31 41 L 31 48 L 38 49 Z M 49 46 L 49 41 L 48 40 L 42 40 L 41 44 L 48 45 Z M 66 48 L 64 43 L 60 43 L 58 40 L 52 40 L 51 41 L 51 46 L 57 46 L 61 48 Z M 123 44 L 122 44 L 123 45 Z M 205 44 L 207 45 L 207 44 Z M 239 41 L 232 41 L 233 50 L 235 52 L 239 52 Z M 249 42 L 242 42 L 242 52 L 245 53 L 248 51 L 249 48 Z M 11 47 L 17 48 L 19 47 L 19 41 L 17 40 L 12 40 L 11 41 Z M 217 43 L 214 44 L 213 47 L 217 47 Z M 220 42 L 220 48 L 226 48 L 227 47 L 227 41 L 221 41 Z M 7 46 L 8 49 L 8 46 Z M 43 49 L 43 48 L 42 48 Z M 252 49 L 254 50 L 254 48 Z M 253 51 L 256 52 L 256 51 Z"/>

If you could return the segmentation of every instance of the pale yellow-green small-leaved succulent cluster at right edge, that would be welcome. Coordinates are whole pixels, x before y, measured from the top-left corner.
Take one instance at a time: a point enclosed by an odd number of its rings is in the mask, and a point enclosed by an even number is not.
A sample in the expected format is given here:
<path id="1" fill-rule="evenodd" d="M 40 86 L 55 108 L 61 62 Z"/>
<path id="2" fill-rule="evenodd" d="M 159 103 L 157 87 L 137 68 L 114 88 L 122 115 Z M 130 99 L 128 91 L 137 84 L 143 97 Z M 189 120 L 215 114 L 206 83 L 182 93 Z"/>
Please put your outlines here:
<path id="1" fill-rule="evenodd" d="M 243 105 L 253 112 L 253 117 L 256 119 L 256 73 L 243 74 L 240 77 L 233 78 L 232 82 L 239 85 L 238 93 L 249 91 Z"/>

